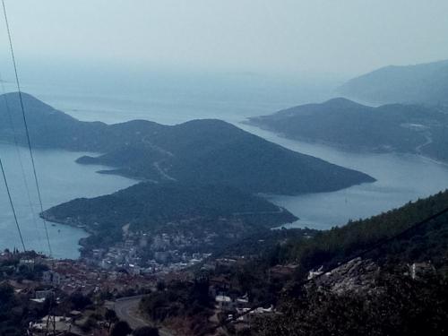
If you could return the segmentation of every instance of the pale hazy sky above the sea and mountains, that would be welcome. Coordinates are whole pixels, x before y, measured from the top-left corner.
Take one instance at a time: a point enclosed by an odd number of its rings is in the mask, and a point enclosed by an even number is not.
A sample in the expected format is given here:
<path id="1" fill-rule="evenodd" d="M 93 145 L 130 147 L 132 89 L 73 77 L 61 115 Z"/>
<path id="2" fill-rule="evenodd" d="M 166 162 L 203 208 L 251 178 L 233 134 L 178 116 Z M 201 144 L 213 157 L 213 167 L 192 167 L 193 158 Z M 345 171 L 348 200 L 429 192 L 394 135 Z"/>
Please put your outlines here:
<path id="1" fill-rule="evenodd" d="M 6 0 L 6 5 L 24 63 L 351 75 L 448 58 L 447 0 Z M 4 36 L 0 41 L 4 45 Z"/>

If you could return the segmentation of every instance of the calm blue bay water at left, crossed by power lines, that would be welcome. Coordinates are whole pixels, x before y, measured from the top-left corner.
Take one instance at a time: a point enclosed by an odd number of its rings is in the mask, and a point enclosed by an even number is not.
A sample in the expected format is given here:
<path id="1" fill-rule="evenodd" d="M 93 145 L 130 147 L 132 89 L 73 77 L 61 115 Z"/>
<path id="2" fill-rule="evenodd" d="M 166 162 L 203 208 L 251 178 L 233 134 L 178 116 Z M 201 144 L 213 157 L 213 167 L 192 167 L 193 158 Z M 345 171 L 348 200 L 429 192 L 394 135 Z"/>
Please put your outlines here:
<path id="1" fill-rule="evenodd" d="M 22 175 L 18 151 L 22 157 L 26 182 Z M 70 151 L 34 151 L 44 209 L 77 197 L 110 194 L 134 184 L 133 180 L 125 177 L 97 174 L 96 171 L 101 169 L 99 166 L 82 166 L 75 163 L 74 160 L 83 154 Z M 0 156 L 4 162 L 4 170 L 26 248 L 48 254 L 44 224 L 38 216 L 39 198 L 32 176 L 29 153 L 24 148 L 0 144 Z M 29 202 L 26 185 L 30 190 L 31 202 Z M 47 223 L 47 229 L 53 256 L 74 259 L 79 256 L 78 241 L 82 237 L 87 237 L 84 230 L 53 223 Z M 13 249 L 14 247 L 22 249 L 2 180 L 0 182 L 0 248 Z"/>

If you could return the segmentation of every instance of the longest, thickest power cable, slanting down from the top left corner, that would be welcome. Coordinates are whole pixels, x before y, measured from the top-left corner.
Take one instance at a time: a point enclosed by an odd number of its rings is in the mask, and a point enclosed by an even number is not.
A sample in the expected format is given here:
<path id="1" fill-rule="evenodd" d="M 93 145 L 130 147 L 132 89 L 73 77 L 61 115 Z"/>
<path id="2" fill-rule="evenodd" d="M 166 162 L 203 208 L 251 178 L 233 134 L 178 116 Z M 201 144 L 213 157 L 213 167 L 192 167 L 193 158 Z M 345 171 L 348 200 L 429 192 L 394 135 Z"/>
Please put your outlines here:
<path id="1" fill-rule="evenodd" d="M 34 162 L 34 155 L 32 153 L 32 147 L 31 147 L 31 141 L 30 141 L 30 131 L 29 131 L 29 128 L 28 128 L 27 118 L 26 118 L 26 114 L 25 114 L 25 108 L 24 108 L 24 105 L 23 105 L 21 84 L 20 84 L 20 81 L 19 81 L 19 74 L 18 74 L 18 71 L 17 71 L 17 63 L 15 61 L 15 56 L 14 56 L 13 39 L 12 39 L 11 30 L 10 30 L 10 27 L 9 27 L 8 15 L 6 13 L 6 5 L 4 4 L 4 0 L 2 0 L 2 4 L 3 4 L 4 22 L 6 24 L 6 30 L 7 30 L 8 39 L 9 39 L 9 48 L 10 48 L 10 51 L 11 51 L 11 57 L 12 57 L 12 61 L 13 61 L 15 82 L 17 84 L 17 91 L 19 93 L 19 100 L 20 100 L 21 109 L 22 109 L 23 124 L 25 125 L 25 132 L 26 132 L 26 136 L 27 136 L 28 149 L 30 151 L 30 159 L 31 159 L 32 171 L 33 171 L 33 175 L 34 175 L 34 182 L 36 183 L 36 189 L 37 189 L 37 192 L 38 192 L 40 211 L 41 211 L 41 213 L 43 213 L 44 212 L 44 206 L 42 205 L 42 197 L 41 197 L 41 194 L 40 194 L 39 178 L 38 178 L 38 174 L 36 172 L 36 164 Z M 45 234 L 46 234 L 46 237 L 47 237 L 48 252 L 49 252 L 49 256 L 51 257 L 53 252 L 51 250 L 50 238 L 48 236 L 47 221 L 45 219 L 43 219 L 43 218 L 42 218 L 42 220 L 44 222 Z"/>

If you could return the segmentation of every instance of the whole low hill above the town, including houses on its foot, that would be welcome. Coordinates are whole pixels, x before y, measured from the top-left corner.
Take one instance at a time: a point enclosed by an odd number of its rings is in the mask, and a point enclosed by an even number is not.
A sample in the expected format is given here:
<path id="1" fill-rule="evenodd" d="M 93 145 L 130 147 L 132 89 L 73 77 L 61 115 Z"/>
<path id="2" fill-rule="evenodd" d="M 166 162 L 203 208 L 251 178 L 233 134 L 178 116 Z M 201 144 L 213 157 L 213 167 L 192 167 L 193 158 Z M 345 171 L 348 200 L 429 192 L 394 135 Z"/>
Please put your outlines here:
<path id="1" fill-rule="evenodd" d="M 83 241 L 87 249 L 112 246 L 125 236 L 157 240 L 169 234 L 176 240 L 173 250 L 184 247 L 194 251 L 219 249 L 237 238 L 297 220 L 262 197 L 230 186 L 173 182 L 140 183 L 114 194 L 76 199 L 48 209 L 42 216 L 85 227 L 92 234 Z M 152 253 L 158 249 L 143 248 Z"/>

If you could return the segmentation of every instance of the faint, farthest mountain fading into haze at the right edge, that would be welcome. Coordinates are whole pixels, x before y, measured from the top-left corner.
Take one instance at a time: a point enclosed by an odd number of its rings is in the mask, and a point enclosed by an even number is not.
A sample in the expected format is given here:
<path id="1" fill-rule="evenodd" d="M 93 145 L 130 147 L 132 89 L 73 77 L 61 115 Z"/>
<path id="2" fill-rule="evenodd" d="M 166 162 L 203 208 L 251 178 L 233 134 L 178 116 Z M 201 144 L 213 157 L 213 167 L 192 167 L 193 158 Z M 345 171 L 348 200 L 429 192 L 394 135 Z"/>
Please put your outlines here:
<path id="1" fill-rule="evenodd" d="M 338 93 L 373 104 L 448 104 L 448 60 L 386 66 L 346 82 Z"/>

